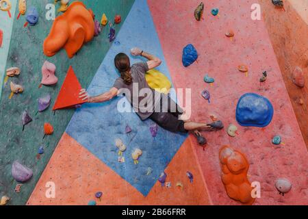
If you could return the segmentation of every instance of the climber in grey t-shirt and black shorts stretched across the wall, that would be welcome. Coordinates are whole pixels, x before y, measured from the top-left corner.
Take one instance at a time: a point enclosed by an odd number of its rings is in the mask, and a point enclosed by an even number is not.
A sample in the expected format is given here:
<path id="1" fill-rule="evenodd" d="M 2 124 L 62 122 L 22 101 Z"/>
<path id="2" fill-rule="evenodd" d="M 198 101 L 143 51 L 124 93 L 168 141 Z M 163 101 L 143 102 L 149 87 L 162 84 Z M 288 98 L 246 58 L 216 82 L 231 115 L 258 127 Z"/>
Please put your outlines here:
<path id="1" fill-rule="evenodd" d="M 99 96 L 89 96 L 88 92 L 82 89 L 79 97 L 88 101 L 88 103 L 103 103 L 110 101 L 119 94 L 125 94 L 127 100 L 142 120 L 151 118 L 157 125 L 171 132 L 188 133 L 188 131 L 192 131 L 201 145 L 205 145 L 207 140 L 198 130 L 217 130 L 223 128 L 220 121 L 209 125 L 181 119 L 183 118 L 181 107 L 166 94 L 160 94 L 150 88 L 146 82 L 146 72 L 162 64 L 162 60 L 138 48 L 131 49 L 131 55 L 140 55 L 148 61 L 131 66 L 128 55 L 119 53 L 114 58 L 114 64 L 120 73 L 120 77 L 116 79 L 110 91 Z M 140 96 L 140 91 L 144 89 L 149 92 L 146 92 L 144 96 Z M 142 105 L 140 103 L 145 104 Z"/>

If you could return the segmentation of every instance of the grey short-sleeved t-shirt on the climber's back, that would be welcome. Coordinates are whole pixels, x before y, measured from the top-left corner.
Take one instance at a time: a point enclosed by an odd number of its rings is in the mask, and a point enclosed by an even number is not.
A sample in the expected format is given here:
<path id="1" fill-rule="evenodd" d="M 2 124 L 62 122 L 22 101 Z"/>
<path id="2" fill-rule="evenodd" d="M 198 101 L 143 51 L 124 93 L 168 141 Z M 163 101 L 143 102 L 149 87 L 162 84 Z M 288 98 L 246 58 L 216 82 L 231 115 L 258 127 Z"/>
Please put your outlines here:
<path id="1" fill-rule="evenodd" d="M 149 66 L 146 62 L 133 64 L 131 66 L 133 83 L 127 85 L 121 77 L 114 82 L 114 88 L 117 88 L 120 94 L 125 94 L 133 110 L 142 120 L 153 114 L 155 107 L 160 104 L 162 98 L 161 94 L 150 88 L 146 82 L 145 74 L 147 71 L 149 71 Z"/>

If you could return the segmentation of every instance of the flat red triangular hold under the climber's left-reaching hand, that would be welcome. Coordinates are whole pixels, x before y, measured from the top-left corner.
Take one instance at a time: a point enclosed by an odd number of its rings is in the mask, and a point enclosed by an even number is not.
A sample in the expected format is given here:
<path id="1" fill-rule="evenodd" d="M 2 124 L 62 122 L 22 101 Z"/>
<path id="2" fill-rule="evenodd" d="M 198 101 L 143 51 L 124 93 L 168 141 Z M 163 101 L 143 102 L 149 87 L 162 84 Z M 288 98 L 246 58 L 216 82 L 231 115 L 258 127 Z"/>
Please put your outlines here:
<path id="1" fill-rule="evenodd" d="M 79 92 L 81 89 L 81 85 L 74 73 L 74 70 L 72 66 L 70 66 L 60 93 L 55 101 L 55 105 L 53 106 L 53 110 L 61 110 L 86 103 L 87 101 L 79 99 Z"/>

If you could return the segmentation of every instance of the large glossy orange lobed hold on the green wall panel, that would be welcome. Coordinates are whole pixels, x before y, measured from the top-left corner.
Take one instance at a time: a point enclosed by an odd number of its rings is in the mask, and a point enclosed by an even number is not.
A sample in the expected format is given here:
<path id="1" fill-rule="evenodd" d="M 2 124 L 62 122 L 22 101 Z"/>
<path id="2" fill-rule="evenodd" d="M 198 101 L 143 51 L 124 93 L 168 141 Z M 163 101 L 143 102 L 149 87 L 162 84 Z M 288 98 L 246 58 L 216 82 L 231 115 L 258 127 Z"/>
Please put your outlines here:
<path id="1" fill-rule="evenodd" d="M 55 18 L 49 36 L 44 40 L 44 54 L 51 57 L 64 48 L 72 58 L 86 42 L 94 38 L 92 14 L 84 3 L 75 1 L 66 12 Z"/>

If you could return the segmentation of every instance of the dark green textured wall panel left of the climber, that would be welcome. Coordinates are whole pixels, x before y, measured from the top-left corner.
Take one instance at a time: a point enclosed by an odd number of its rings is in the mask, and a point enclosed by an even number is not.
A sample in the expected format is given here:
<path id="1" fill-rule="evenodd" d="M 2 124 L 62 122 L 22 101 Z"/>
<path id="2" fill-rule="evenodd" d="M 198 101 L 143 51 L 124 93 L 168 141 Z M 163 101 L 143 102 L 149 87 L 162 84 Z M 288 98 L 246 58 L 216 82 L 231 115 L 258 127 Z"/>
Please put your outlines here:
<path id="1" fill-rule="evenodd" d="M 12 2 L 16 4 L 16 1 Z M 75 112 L 75 110 L 62 110 L 54 115 L 50 107 L 46 112 L 36 115 L 38 98 L 44 96 L 44 94 L 51 94 L 53 100 L 51 105 L 53 105 L 70 65 L 73 66 L 81 85 L 88 87 L 111 46 L 108 39 L 109 28 L 105 27 L 99 37 L 84 45 L 78 55 L 71 60 L 68 59 L 65 51 L 60 51 L 54 57 L 44 56 L 42 42 L 49 34 L 49 29 L 51 29 L 53 23 L 53 21 L 47 21 L 45 18 L 47 12 L 45 6 L 47 3 L 53 2 L 53 0 L 27 1 L 27 6 L 34 5 L 40 14 L 38 24 L 34 27 L 29 25 L 23 27 L 25 16 L 21 16 L 17 21 L 18 12 L 12 14 L 11 18 L 14 24 L 6 68 L 14 66 L 21 68 L 21 75 L 9 79 L 8 83 L 3 85 L 0 103 L 0 196 L 8 195 L 12 197 L 11 205 L 23 205 L 26 203 L 40 178 L 42 170 L 49 162 L 57 142 L 64 133 L 66 125 Z M 116 14 L 120 14 L 123 21 L 125 21 L 133 4 L 133 0 L 84 0 L 82 2 L 86 4 L 87 8 L 93 10 L 99 21 L 103 13 L 112 21 Z M 6 16 L 6 12 L 0 11 L 0 13 L 5 13 L 5 19 L 1 19 L 0 22 L 8 22 L 10 18 Z M 116 25 L 116 31 L 120 27 L 121 24 Z M 54 63 L 57 67 L 56 75 L 59 82 L 57 86 L 43 86 L 39 89 L 41 67 L 45 60 Z M 25 88 L 23 94 L 14 95 L 12 99 L 9 99 L 10 81 L 23 85 Z M 21 114 L 24 110 L 27 110 L 33 118 L 33 122 L 25 127 L 25 131 L 23 131 L 21 125 Z M 53 133 L 53 136 L 48 136 L 43 140 L 44 123 L 51 123 L 54 126 L 55 133 Z M 37 159 L 36 155 L 40 146 L 44 146 L 45 153 L 40 159 Z M 34 170 L 34 177 L 22 186 L 19 193 L 14 192 L 17 183 L 13 181 L 10 173 L 12 163 L 15 160 Z"/>

